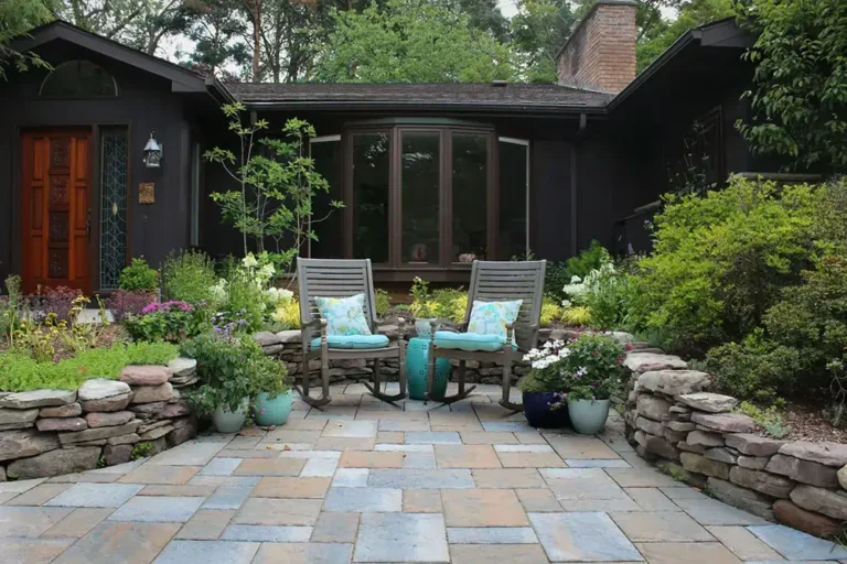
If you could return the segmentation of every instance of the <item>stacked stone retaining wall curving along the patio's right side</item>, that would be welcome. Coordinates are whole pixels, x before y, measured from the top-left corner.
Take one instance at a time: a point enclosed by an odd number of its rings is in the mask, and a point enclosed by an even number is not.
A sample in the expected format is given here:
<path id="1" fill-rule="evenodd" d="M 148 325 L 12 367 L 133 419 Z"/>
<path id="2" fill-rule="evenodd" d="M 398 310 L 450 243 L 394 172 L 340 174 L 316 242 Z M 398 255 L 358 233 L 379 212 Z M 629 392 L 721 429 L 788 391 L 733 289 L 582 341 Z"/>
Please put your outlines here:
<path id="1" fill-rule="evenodd" d="M 636 452 L 673 476 L 771 521 L 833 536 L 847 521 L 847 445 L 763 436 L 738 401 L 679 357 L 630 352 L 624 419 Z"/>

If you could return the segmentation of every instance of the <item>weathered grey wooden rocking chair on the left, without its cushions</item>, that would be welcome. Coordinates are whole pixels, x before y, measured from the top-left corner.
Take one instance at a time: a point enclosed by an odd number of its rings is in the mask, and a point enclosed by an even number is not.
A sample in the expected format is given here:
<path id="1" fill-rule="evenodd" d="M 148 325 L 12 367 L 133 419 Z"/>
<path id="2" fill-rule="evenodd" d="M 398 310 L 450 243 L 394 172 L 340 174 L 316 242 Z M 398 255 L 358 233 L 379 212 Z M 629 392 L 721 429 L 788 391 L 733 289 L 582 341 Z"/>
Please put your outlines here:
<path id="1" fill-rule="evenodd" d="M 303 379 L 302 388 L 298 388 L 303 401 L 320 408 L 331 401 L 330 398 L 330 360 L 374 360 L 373 387 L 365 387 L 376 398 L 395 402 L 407 397 L 406 393 L 406 347 L 403 340 L 404 321 L 400 319 L 399 338 L 390 340 L 382 348 L 331 348 L 326 341 L 326 321 L 323 319 L 315 306 L 315 297 L 350 297 L 356 294 L 365 295 L 365 317 L 371 333 L 376 335 L 376 305 L 374 301 L 374 279 L 371 272 L 371 259 L 364 260 L 324 260 L 297 259 L 297 275 L 300 288 L 300 318 L 303 340 Z M 320 338 L 320 346 L 314 339 Z M 321 360 L 321 383 L 323 393 L 320 398 L 309 397 L 309 361 Z M 380 390 L 379 368 L 383 359 L 396 358 L 400 365 L 400 393 L 388 395 Z"/>

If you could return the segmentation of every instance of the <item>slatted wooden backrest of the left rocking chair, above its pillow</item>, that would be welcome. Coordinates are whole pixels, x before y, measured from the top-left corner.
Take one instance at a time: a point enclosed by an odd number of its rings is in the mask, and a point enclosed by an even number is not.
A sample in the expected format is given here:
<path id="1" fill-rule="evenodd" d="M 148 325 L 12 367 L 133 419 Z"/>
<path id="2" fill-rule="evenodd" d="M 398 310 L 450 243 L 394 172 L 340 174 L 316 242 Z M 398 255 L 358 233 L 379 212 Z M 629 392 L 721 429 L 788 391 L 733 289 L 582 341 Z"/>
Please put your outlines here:
<path id="1" fill-rule="evenodd" d="M 371 259 L 297 259 L 300 288 L 300 319 L 303 324 L 320 317 L 315 297 L 350 297 L 365 294 L 365 317 L 371 330 L 376 325 L 374 278 Z"/>

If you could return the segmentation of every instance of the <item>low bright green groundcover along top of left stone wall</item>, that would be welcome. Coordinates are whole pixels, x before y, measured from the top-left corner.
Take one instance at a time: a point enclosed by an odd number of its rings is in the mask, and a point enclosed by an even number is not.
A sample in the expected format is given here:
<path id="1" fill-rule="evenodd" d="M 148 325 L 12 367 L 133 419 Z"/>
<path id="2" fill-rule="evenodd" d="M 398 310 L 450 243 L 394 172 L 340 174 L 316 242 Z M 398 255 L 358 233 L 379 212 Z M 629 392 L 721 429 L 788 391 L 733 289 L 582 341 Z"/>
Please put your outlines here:
<path id="1" fill-rule="evenodd" d="M 93 348 L 58 362 L 37 362 L 29 355 L 10 350 L 0 355 L 0 390 L 76 390 L 89 378 L 117 379 L 125 366 L 167 365 L 178 349 L 167 343 L 116 344 Z"/>

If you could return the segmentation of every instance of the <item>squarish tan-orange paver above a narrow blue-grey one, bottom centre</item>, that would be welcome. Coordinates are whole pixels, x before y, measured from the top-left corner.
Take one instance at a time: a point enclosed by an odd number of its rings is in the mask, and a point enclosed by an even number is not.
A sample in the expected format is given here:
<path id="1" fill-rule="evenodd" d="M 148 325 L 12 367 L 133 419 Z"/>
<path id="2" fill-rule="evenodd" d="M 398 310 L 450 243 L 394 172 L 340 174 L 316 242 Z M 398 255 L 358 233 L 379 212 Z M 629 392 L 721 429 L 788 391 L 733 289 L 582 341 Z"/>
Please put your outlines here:
<path id="1" fill-rule="evenodd" d="M 468 489 L 442 492 L 449 527 L 528 527 L 524 507 L 511 489 Z"/>

